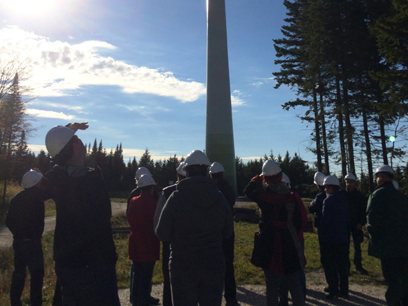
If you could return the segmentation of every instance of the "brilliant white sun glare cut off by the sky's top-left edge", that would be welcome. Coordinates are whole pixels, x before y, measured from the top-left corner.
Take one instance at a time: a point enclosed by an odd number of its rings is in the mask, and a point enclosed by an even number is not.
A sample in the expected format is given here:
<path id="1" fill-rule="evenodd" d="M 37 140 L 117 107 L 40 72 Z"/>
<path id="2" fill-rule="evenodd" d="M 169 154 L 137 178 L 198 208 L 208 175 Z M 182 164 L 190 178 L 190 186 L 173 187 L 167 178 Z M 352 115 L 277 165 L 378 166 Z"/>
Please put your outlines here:
<path id="1" fill-rule="evenodd" d="M 33 16 L 52 13 L 56 4 L 56 0 L 8 0 L 3 3 L 13 14 Z"/>

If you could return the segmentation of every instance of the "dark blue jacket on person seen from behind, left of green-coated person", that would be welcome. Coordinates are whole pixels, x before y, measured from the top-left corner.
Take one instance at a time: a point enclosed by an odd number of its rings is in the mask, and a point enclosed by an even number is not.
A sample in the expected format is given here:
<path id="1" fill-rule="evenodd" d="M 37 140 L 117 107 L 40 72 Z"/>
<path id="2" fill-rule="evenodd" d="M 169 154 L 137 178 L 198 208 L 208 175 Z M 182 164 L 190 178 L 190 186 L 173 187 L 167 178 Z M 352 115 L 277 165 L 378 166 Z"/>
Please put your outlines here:
<path id="1" fill-rule="evenodd" d="M 342 191 L 333 191 L 323 201 L 319 233 L 324 243 L 349 242 L 349 206 Z"/>

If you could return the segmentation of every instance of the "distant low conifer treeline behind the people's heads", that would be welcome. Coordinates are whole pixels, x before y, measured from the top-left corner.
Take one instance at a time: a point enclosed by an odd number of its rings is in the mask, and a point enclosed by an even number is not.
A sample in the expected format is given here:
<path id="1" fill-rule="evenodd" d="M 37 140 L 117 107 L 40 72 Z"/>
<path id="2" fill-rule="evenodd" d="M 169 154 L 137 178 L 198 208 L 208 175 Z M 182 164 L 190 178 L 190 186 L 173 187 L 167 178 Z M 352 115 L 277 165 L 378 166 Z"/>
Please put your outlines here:
<path id="1" fill-rule="evenodd" d="M 176 182 L 176 167 L 179 162 L 183 162 L 184 157 L 177 155 L 169 156 L 164 160 L 154 160 L 151 157 L 149 149 L 136 159 L 136 157 L 124 160 L 122 144 L 118 144 L 115 150 L 108 151 L 103 147 L 102 140 L 98 143 L 97 140 L 91 144 L 85 144 L 87 151 L 85 157 L 85 165 L 95 167 L 97 164 L 102 169 L 104 180 L 107 189 L 112 193 L 120 192 L 125 194 L 130 193 L 135 188 L 135 175 L 138 167 L 145 166 L 154 177 L 159 188 L 167 187 L 171 182 Z M 13 155 L 13 159 L 17 159 L 17 155 Z M 291 181 L 292 186 L 304 194 L 304 196 L 313 195 L 315 188 L 313 187 L 313 175 L 315 169 L 311 169 L 308 164 L 300 158 L 297 153 L 290 157 L 286 152 L 284 157 L 277 155 L 275 157 L 272 152 L 270 155 L 264 155 L 259 159 L 249 160 L 244 162 L 240 157 L 236 157 L 237 164 L 237 191 L 238 195 L 243 195 L 243 189 L 246 184 L 257 174 L 261 173 L 262 164 L 268 158 L 274 158 L 281 166 L 282 171 L 286 173 Z M 39 168 L 42 173 L 46 173 L 53 166 L 50 156 L 45 151 L 40 151 L 37 155 L 27 151 L 24 158 L 19 158 L 19 161 L 13 162 L 15 168 L 12 171 L 10 180 L 21 182 L 21 178 L 32 168 Z"/>

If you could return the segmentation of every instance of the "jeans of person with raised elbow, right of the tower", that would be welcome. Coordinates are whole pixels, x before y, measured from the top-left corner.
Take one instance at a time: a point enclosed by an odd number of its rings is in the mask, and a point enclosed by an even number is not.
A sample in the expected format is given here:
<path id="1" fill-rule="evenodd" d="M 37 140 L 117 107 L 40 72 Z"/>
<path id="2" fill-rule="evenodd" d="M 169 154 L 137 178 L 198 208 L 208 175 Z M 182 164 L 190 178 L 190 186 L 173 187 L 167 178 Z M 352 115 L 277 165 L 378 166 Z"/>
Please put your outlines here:
<path id="1" fill-rule="evenodd" d="M 292 296 L 293 306 L 304 306 L 304 298 L 302 292 L 302 285 L 299 280 L 299 273 L 294 272 L 286 274 L 284 276 L 279 274 L 273 274 L 268 270 L 263 270 L 266 281 L 266 305 L 278 306 L 279 305 L 279 278 L 283 277 L 288 284 L 290 296 Z"/>

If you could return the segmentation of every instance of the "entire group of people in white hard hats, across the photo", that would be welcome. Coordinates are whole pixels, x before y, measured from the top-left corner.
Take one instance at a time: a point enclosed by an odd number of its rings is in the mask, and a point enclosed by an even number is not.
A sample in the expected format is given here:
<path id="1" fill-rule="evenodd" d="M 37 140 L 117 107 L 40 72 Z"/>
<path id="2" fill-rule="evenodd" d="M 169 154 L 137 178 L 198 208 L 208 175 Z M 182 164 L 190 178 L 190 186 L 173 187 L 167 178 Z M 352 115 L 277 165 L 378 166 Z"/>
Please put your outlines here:
<path id="1" fill-rule="evenodd" d="M 55 126 L 46 135 L 46 148 L 55 162 L 43 175 L 28 171 L 24 190 L 10 202 L 6 225 L 13 234 L 15 269 L 10 301 L 21 305 L 26 267 L 31 274 L 31 305 L 42 303 L 44 201 L 56 204 L 53 258 L 57 275 L 53 305 L 120 305 L 115 262 L 118 255 L 111 230 L 111 202 L 102 171 L 84 166 L 86 147 L 75 135 L 87 122 Z M 210 170 L 210 171 L 209 171 Z M 239 305 L 234 278 L 234 220 L 236 195 L 223 178 L 223 166 L 202 151 L 192 151 L 176 169 L 178 181 L 163 191 L 148 169 L 136 173 L 137 188 L 127 203 L 131 227 L 130 298 L 133 306 L 158 304 L 151 296 L 154 265 L 163 256 L 163 306 Z M 210 173 L 210 178 L 207 177 Z M 408 198 L 393 186 L 393 170 L 383 165 L 375 173 L 378 187 L 367 200 L 356 178 L 344 178 L 346 190 L 333 175 L 315 174 L 319 189 L 308 209 L 314 214 L 326 298 L 349 298 L 350 237 L 355 270 L 362 267 L 363 227 L 369 233 L 369 255 L 380 258 L 389 287 L 389 305 L 408 305 Z M 304 236 L 307 213 L 290 179 L 274 160 L 267 160 L 244 190 L 261 209 L 259 231 L 269 250 L 266 277 L 268 306 L 305 305 Z M 59 294 L 57 294 L 59 293 Z"/>

